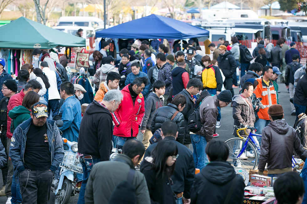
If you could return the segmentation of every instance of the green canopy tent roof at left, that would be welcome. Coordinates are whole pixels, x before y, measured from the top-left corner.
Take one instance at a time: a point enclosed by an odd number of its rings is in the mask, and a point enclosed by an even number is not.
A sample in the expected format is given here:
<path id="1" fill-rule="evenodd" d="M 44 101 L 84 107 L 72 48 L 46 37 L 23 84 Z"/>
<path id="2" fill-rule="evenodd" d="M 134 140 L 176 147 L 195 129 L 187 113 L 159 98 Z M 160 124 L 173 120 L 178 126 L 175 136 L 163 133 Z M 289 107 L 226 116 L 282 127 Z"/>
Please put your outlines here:
<path id="1" fill-rule="evenodd" d="M 0 48 L 49 50 L 54 47 L 85 47 L 85 39 L 77 37 L 25 17 L 0 27 Z"/>

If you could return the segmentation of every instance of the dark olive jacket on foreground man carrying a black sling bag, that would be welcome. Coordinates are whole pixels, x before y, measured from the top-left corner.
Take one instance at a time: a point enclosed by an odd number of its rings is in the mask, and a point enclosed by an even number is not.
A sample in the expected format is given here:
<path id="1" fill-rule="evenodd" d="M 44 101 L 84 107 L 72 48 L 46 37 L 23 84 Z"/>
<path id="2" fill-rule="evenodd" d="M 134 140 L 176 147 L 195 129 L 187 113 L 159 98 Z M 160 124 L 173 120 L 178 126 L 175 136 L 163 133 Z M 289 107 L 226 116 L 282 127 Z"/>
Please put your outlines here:
<path id="1" fill-rule="evenodd" d="M 134 169 L 133 162 L 124 154 L 115 157 L 122 161 L 104 161 L 94 164 L 86 184 L 85 203 L 108 203 L 115 187 L 122 181 L 127 181 L 129 169 Z M 145 176 L 135 171 L 132 185 L 138 204 L 150 204 Z"/>

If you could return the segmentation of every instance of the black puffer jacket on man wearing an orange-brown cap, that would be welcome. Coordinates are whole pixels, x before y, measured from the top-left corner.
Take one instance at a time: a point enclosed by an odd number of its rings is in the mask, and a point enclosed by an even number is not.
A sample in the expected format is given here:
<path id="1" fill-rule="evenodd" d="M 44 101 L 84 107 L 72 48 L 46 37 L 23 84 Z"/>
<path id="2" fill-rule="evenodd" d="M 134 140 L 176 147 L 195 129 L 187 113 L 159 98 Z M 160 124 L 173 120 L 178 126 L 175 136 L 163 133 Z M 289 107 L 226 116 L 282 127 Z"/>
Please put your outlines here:
<path id="1" fill-rule="evenodd" d="M 217 58 L 219 62 L 219 67 L 222 70 L 224 76 L 226 78 L 232 77 L 232 74 L 237 69 L 237 62 L 235 58 L 232 56 L 230 51 L 226 51 L 224 55 L 221 55 Z"/>

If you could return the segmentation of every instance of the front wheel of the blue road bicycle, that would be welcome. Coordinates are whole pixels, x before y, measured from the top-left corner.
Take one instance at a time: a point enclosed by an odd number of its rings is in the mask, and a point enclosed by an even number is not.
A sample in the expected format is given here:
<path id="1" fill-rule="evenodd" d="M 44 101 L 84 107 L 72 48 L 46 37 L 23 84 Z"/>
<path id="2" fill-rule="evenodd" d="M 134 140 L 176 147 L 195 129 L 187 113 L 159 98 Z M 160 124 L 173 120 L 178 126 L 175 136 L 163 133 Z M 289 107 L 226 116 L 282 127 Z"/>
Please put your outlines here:
<path id="1" fill-rule="evenodd" d="M 246 148 L 239 157 L 239 153 L 242 151 L 244 141 L 241 138 L 231 138 L 225 143 L 229 148 L 229 162 L 234 167 L 242 167 L 249 172 L 249 170 L 255 170 L 258 162 L 258 155 L 255 146 L 251 142 L 247 142 Z"/>

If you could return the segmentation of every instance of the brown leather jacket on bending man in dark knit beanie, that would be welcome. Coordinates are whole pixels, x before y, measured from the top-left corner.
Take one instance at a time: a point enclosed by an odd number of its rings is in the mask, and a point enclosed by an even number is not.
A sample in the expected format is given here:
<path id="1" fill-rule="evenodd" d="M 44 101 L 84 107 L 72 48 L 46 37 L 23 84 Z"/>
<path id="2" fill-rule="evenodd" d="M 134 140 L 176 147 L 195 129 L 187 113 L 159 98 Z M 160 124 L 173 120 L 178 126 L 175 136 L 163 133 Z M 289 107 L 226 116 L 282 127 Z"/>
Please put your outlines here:
<path id="1" fill-rule="evenodd" d="M 219 114 L 217 107 L 220 106 L 217 96 L 207 96 L 201 102 L 199 107 L 200 122 L 203 124 L 200 131 L 196 134 L 206 137 L 206 141 L 209 142 L 213 138 L 213 133 L 216 126 L 216 117 Z"/>

